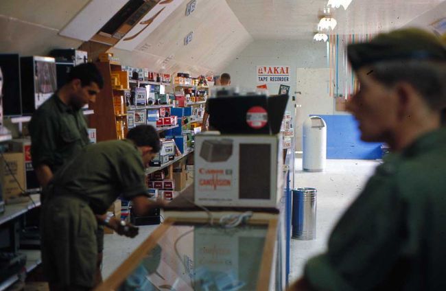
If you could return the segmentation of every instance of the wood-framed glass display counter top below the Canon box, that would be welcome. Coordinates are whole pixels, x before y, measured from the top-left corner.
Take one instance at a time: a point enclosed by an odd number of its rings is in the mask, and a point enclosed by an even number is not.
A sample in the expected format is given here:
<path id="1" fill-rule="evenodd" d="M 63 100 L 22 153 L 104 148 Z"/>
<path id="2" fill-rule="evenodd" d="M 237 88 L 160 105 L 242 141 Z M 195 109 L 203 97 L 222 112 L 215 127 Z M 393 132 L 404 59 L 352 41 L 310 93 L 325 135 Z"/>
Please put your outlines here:
<path id="1" fill-rule="evenodd" d="M 272 290 L 277 219 L 225 229 L 168 218 L 96 290 Z"/>

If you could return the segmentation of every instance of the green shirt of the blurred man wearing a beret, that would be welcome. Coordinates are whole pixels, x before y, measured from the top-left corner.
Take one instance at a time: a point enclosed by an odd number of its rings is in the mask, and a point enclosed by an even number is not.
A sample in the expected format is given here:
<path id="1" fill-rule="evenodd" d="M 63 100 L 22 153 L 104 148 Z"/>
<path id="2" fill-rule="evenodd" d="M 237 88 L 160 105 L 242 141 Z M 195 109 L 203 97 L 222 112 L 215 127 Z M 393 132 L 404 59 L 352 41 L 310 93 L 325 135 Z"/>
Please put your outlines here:
<path id="1" fill-rule="evenodd" d="M 377 167 L 305 277 L 316 290 L 446 290 L 446 129 Z"/>

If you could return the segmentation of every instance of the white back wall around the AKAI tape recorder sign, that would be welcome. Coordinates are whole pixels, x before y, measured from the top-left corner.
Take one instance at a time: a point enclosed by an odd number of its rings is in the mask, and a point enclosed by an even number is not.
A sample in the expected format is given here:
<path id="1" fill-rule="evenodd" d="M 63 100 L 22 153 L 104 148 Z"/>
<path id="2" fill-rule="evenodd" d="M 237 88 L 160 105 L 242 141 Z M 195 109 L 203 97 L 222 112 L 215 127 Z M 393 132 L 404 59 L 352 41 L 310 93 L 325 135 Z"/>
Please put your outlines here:
<path id="1" fill-rule="evenodd" d="M 296 124 L 296 149 L 301 149 L 301 121 L 303 117 L 309 114 L 322 114 L 319 112 L 313 112 L 315 108 L 318 108 L 318 104 L 309 103 L 312 101 L 303 100 L 301 93 L 295 93 L 306 91 L 308 95 L 312 95 L 311 86 L 305 86 L 296 88 L 299 76 L 297 75 L 298 68 L 307 69 L 327 69 L 327 45 L 323 42 L 314 42 L 313 40 L 255 40 L 250 43 L 242 53 L 231 62 L 222 72 L 231 74 L 231 84 L 234 86 L 246 87 L 248 89 L 255 88 L 257 83 L 257 66 L 290 66 L 290 102 L 288 102 L 287 110 L 292 114 L 296 114 L 298 121 Z M 307 78 L 305 78 L 307 80 Z M 280 83 L 267 83 L 268 91 L 270 94 L 277 94 L 279 91 Z M 314 95 L 319 95 L 320 86 L 327 87 L 327 84 L 314 84 Z M 328 94 L 327 94 L 328 95 Z M 292 102 L 292 96 L 297 97 L 297 104 L 302 107 L 294 108 L 296 102 Z M 318 96 L 320 97 L 320 96 Z M 333 98 L 327 97 L 323 101 L 321 98 L 317 98 L 317 102 L 327 102 L 320 104 L 320 108 L 325 108 L 324 112 L 327 114 L 333 114 Z M 331 109 L 330 109 L 331 108 Z"/>

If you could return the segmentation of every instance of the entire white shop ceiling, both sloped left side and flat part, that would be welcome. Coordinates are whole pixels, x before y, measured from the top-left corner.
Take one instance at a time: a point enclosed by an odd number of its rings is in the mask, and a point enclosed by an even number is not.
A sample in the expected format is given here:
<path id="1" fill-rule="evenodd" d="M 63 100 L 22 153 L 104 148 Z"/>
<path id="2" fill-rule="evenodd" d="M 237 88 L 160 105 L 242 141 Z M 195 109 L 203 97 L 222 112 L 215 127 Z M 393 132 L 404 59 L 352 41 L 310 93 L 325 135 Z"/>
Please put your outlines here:
<path id="1" fill-rule="evenodd" d="M 110 0 L 95 1 L 106 5 Z M 185 16 L 188 2 L 183 1 L 133 51 L 111 51 L 123 65 L 193 75 L 219 73 L 253 39 L 311 40 L 318 14 L 327 4 L 327 0 L 197 0 L 196 11 Z M 82 40 L 59 32 L 89 3 L 0 0 L 0 52 L 45 56 L 56 47 L 79 47 Z M 446 1 L 353 0 L 347 11 L 340 8 L 333 16 L 338 20 L 333 33 L 338 34 L 375 33 L 406 23 L 427 28 L 428 23 L 446 17 Z M 100 16 L 92 17 L 89 24 L 101 21 Z M 183 38 L 191 31 L 193 40 L 185 46 Z"/>

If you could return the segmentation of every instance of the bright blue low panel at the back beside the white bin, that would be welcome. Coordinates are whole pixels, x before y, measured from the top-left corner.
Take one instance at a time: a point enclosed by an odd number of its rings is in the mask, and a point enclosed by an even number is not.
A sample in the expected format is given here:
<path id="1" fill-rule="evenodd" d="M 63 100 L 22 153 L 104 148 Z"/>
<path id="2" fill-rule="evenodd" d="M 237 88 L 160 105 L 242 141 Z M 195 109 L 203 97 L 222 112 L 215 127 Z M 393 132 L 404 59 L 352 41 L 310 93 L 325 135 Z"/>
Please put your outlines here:
<path id="1" fill-rule="evenodd" d="M 381 159 L 382 143 L 360 139 L 357 121 L 351 115 L 318 115 L 327 123 L 327 159 Z"/>

